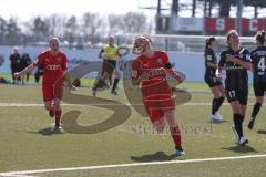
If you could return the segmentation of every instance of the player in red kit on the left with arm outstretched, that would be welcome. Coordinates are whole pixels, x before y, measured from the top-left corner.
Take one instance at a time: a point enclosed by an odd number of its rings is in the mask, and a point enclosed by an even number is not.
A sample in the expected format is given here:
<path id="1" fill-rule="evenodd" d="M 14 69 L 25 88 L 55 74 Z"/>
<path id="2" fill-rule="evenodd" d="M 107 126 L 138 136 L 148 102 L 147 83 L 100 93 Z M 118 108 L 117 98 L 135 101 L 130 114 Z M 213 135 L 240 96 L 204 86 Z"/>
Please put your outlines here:
<path id="1" fill-rule="evenodd" d="M 59 50 L 59 39 L 51 38 L 49 40 L 49 49 L 38 55 L 38 59 L 34 63 L 29 65 L 23 71 L 16 73 L 16 76 L 19 77 L 24 75 L 28 72 L 42 66 L 43 69 L 43 80 L 42 80 L 42 95 L 43 102 L 47 111 L 51 117 L 55 115 L 55 125 L 54 131 L 60 131 L 60 118 L 62 108 L 60 101 L 63 94 L 63 83 L 60 86 L 60 93 L 55 94 L 55 82 L 65 76 L 66 72 L 66 55 Z M 70 82 L 70 79 L 66 76 Z"/>

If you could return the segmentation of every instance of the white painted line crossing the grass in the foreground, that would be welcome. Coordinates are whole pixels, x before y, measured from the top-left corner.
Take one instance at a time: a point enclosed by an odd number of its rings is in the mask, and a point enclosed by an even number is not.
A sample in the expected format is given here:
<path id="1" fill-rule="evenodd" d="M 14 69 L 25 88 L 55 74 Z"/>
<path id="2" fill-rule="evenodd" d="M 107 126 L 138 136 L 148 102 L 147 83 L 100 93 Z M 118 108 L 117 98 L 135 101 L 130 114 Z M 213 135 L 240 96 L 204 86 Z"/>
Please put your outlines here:
<path id="1" fill-rule="evenodd" d="M 1 176 L 7 176 L 7 177 L 24 176 L 24 177 L 29 177 L 28 175 L 32 175 L 32 174 L 44 174 L 44 173 L 74 171 L 74 170 L 104 169 L 104 168 L 123 168 L 123 167 L 167 165 L 167 164 L 187 164 L 187 163 L 201 163 L 201 162 L 219 162 L 219 160 L 234 160 L 234 159 L 263 158 L 263 157 L 266 157 L 266 154 L 262 154 L 262 155 L 248 155 L 248 156 L 233 156 L 233 157 L 215 157 L 215 158 L 184 159 L 184 160 L 181 160 L 181 159 L 178 160 L 178 159 L 177 159 L 177 160 L 167 160 L 167 162 L 113 164 L 113 165 L 99 165 L 99 166 L 71 167 L 71 168 L 35 169 L 35 170 L 0 173 L 0 177 L 1 177 Z"/>

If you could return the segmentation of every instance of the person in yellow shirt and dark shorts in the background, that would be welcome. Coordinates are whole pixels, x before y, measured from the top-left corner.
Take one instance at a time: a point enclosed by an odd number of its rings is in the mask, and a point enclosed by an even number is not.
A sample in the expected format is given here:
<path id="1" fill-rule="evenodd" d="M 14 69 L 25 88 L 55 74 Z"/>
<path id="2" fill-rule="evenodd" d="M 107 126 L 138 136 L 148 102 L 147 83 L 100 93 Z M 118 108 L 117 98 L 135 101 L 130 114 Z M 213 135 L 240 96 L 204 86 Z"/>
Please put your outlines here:
<path id="1" fill-rule="evenodd" d="M 108 84 L 112 86 L 111 93 L 115 95 L 117 94 L 116 86 L 119 84 L 121 73 L 116 69 L 116 61 L 120 56 L 119 46 L 115 44 L 115 38 L 111 35 L 109 37 L 109 44 L 104 46 L 99 53 L 99 58 L 103 59 L 103 66 L 101 79 L 96 81 L 92 88 L 94 96 L 96 95 L 98 88 L 106 86 Z M 112 82 L 113 72 L 115 74 L 115 79 Z M 110 83 L 106 83 L 108 79 L 110 80 Z"/>

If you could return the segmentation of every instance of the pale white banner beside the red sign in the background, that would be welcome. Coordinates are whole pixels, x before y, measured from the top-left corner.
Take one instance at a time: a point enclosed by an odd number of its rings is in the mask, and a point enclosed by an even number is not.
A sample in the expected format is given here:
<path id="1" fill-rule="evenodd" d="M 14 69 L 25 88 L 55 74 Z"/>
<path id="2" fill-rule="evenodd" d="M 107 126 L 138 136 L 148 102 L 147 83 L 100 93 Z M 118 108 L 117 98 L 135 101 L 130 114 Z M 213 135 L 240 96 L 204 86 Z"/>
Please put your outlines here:
<path id="1" fill-rule="evenodd" d="M 204 30 L 203 18 L 172 18 L 172 30 L 173 31 L 193 31 L 201 32 Z"/>

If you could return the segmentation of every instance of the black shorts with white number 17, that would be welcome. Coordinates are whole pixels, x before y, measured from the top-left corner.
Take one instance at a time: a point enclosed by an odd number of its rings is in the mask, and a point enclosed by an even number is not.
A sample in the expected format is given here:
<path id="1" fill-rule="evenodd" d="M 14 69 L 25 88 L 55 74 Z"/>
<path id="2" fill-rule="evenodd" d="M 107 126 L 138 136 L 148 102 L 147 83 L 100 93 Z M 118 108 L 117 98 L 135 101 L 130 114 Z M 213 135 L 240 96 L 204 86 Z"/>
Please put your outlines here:
<path id="1" fill-rule="evenodd" d="M 239 101 L 242 105 L 247 105 L 248 88 L 244 88 L 244 90 L 226 88 L 225 93 L 229 103 L 233 101 Z"/>

